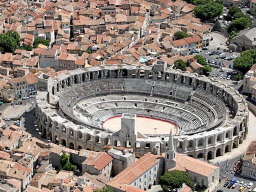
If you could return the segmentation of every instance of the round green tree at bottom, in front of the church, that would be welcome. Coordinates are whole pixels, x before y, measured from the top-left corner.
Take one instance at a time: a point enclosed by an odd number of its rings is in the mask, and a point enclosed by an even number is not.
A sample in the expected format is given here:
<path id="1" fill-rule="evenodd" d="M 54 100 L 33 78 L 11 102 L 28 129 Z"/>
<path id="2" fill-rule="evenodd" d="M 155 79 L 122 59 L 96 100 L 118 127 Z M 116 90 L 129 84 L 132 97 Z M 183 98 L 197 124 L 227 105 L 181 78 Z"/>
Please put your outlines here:
<path id="1" fill-rule="evenodd" d="M 194 191 L 194 184 L 185 171 L 171 170 L 164 172 L 159 178 L 163 191 L 172 191 L 180 188 L 185 183 Z"/>

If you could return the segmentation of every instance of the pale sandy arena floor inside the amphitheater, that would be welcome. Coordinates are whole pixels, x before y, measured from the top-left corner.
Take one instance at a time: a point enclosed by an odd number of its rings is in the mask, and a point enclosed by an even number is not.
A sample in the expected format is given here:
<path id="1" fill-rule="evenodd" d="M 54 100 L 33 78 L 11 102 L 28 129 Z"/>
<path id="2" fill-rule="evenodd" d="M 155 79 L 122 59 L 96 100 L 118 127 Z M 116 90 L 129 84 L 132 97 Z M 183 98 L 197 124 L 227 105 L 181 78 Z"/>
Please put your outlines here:
<path id="1" fill-rule="evenodd" d="M 121 117 L 117 116 L 106 120 L 103 127 L 111 131 L 117 131 L 120 129 L 120 124 Z M 177 127 L 170 122 L 138 116 L 136 117 L 136 128 L 137 131 L 144 134 L 169 134 L 170 129 L 172 129 L 173 135 L 177 133 Z"/>

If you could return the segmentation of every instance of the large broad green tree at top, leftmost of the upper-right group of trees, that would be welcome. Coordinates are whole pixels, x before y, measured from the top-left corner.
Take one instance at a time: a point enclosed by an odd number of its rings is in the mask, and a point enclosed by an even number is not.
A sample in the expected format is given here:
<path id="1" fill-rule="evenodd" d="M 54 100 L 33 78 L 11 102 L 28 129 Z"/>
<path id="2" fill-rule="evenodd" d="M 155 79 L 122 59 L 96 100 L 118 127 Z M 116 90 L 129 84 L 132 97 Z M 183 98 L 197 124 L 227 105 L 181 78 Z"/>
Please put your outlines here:
<path id="1" fill-rule="evenodd" d="M 202 21 L 212 20 L 222 13 L 223 5 L 209 1 L 205 4 L 198 5 L 194 8 L 194 15 Z"/>

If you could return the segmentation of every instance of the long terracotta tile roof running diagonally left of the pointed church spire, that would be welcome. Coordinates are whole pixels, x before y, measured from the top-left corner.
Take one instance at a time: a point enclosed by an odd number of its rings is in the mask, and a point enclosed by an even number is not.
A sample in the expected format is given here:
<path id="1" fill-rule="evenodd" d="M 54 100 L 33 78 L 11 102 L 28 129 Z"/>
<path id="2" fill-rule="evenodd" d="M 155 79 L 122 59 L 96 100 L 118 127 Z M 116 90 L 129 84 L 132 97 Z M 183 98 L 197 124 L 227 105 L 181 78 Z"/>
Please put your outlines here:
<path id="1" fill-rule="evenodd" d="M 107 183 L 107 185 L 125 191 L 133 180 L 135 180 L 149 168 L 153 167 L 157 163 L 158 158 L 163 157 L 151 154 L 149 152 L 144 154 L 141 158 L 113 177 Z"/>

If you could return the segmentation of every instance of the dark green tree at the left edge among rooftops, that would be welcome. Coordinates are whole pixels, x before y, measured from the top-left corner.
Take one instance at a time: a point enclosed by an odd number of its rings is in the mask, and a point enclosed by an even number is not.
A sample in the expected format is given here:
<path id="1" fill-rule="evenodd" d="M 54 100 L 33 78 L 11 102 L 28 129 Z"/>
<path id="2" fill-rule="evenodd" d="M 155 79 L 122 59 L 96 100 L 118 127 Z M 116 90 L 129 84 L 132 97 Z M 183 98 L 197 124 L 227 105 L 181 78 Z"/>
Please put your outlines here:
<path id="1" fill-rule="evenodd" d="M 14 52 L 18 46 L 19 35 L 16 31 L 9 30 L 0 34 L 0 52 Z"/>

